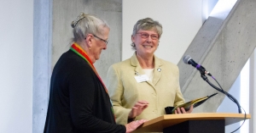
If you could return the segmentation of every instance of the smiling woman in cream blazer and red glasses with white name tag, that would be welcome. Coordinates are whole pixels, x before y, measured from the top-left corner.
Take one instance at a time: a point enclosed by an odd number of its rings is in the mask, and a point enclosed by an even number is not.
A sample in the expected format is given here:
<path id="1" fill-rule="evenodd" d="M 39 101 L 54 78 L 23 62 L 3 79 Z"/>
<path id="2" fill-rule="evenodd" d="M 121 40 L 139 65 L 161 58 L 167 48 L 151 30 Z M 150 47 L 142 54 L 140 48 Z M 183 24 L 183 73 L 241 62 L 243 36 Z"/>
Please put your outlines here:
<path id="1" fill-rule="evenodd" d="M 138 20 L 131 35 L 135 53 L 108 69 L 107 87 L 118 124 L 154 119 L 166 114 L 166 107 L 184 103 L 177 65 L 154 55 L 161 35 L 162 25 L 158 21 Z M 191 113 L 192 109 L 191 106 L 186 112 L 177 108 L 175 113 Z"/>

